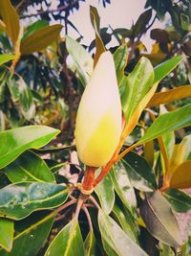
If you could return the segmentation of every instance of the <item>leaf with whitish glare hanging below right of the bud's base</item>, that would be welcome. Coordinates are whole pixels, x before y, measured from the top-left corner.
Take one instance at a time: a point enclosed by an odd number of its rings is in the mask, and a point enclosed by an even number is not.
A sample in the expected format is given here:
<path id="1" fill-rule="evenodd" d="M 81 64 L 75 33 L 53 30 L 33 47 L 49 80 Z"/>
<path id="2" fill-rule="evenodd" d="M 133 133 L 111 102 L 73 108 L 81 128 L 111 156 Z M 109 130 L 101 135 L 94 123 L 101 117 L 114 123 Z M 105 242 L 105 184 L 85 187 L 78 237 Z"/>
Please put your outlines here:
<path id="1" fill-rule="evenodd" d="M 131 207 L 136 207 L 137 201 L 134 189 L 129 180 L 129 176 L 125 167 L 121 162 L 115 165 L 115 168 L 110 172 L 114 187 L 118 197 L 122 200 L 125 206 L 131 211 Z"/>

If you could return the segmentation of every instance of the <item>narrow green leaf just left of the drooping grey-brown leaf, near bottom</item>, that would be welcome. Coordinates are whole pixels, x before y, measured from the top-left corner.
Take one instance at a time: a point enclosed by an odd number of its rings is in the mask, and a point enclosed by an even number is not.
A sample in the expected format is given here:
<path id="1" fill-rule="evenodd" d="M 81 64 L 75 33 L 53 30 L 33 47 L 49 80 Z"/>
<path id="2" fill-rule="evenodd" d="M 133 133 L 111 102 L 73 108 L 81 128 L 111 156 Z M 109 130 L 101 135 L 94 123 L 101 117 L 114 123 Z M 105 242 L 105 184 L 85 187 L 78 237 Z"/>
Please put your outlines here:
<path id="1" fill-rule="evenodd" d="M 134 216 L 128 209 L 115 204 L 113 212 L 120 223 L 122 230 L 130 237 L 135 243 L 138 244 L 138 224 L 134 220 Z"/>

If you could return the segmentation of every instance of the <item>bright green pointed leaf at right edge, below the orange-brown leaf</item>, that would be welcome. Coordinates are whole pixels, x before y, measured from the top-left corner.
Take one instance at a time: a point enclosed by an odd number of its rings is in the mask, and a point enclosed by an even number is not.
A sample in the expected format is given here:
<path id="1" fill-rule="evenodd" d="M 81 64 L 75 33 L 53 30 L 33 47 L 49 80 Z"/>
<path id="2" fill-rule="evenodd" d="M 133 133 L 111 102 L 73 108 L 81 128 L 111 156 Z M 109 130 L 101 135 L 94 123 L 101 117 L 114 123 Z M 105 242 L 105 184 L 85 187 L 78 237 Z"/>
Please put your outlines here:
<path id="1" fill-rule="evenodd" d="M 168 131 L 185 128 L 191 125 L 191 105 L 184 105 L 176 111 L 160 115 L 148 128 L 136 145 L 158 138 Z"/>

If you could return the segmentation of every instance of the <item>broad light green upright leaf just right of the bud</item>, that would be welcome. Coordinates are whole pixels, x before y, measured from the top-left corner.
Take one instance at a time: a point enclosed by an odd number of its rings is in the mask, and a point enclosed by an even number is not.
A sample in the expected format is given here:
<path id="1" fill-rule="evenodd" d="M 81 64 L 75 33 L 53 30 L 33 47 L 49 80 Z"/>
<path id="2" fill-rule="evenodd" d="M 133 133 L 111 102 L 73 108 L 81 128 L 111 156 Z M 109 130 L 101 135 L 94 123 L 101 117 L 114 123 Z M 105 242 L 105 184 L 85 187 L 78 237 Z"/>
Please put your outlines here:
<path id="1" fill-rule="evenodd" d="M 130 120 L 138 104 L 152 87 L 153 81 L 152 64 L 148 58 L 144 57 L 140 58 L 133 72 L 121 81 L 121 86 L 124 86 L 121 103 L 126 122 Z"/>

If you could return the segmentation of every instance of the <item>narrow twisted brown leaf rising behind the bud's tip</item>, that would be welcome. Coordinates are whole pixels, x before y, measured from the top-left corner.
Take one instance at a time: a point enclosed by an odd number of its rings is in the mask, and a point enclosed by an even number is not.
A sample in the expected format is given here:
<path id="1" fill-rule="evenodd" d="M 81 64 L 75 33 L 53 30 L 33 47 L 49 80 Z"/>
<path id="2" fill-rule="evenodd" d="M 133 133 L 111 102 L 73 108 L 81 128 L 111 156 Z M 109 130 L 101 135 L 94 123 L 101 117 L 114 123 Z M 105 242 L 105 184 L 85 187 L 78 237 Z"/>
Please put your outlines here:
<path id="1" fill-rule="evenodd" d="M 90 6 L 90 18 L 96 32 L 96 54 L 94 58 L 94 66 L 96 66 L 98 58 L 103 52 L 105 52 L 105 46 L 103 44 L 101 36 L 99 35 L 100 17 L 98 15 L 96 7 Z"/>

